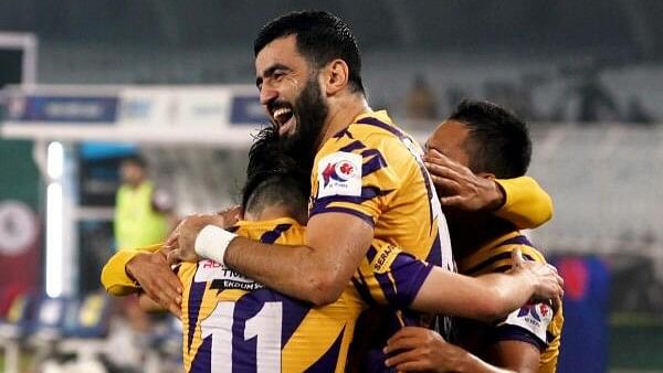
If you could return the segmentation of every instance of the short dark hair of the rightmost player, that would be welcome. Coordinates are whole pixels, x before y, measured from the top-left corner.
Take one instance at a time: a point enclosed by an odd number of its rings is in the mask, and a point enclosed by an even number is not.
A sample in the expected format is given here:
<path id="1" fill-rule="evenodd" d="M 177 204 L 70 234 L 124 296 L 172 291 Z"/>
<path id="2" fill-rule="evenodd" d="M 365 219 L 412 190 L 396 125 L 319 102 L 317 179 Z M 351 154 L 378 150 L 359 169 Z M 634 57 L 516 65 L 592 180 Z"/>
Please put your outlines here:
<path id="1" fill-rule="evenodd" d="M 465 99 L 449 119 L 470 130 L 464 146 L 472 171 L 490 172 L 501 179 L 527 172 L 532 140 L 527 125 L 515 114 L 491 102 Z"/>

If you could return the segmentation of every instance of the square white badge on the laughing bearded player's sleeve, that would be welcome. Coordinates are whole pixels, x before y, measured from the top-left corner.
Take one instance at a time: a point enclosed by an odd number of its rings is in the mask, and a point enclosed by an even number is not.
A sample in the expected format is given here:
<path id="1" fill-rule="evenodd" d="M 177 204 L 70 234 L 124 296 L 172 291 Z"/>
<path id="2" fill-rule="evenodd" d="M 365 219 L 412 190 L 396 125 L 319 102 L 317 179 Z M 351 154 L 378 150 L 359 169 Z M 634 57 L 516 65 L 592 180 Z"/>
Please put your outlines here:
<path id="1" fill-rule="evenodd" d="M 361 195 L 360 154 L 335 152 L 318 162 L 318 198 Z"/>

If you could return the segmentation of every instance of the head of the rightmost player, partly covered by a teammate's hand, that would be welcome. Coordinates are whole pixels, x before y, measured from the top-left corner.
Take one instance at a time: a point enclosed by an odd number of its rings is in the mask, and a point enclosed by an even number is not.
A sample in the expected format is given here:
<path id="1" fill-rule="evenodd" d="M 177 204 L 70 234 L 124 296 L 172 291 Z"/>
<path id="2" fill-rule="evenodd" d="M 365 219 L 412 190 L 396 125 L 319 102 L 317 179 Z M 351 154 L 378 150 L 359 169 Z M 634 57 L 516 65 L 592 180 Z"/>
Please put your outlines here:
<path id="1" fill-rule="evenodd" d="M 522 177 L 529 167 L 527 125 L 513 113 L 482 100 L 463 100 L 427 141 L 474 173 L 499 179 Z"/>

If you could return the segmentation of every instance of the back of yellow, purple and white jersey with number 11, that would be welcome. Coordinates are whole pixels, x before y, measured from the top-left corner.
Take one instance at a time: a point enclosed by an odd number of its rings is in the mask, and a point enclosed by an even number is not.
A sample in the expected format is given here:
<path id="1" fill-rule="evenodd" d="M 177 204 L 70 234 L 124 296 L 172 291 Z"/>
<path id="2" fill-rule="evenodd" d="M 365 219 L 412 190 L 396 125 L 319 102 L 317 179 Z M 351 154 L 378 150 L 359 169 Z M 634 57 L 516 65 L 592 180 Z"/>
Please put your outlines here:
<path id="1" fill-rule="evenodd" d="M 303 244 L 290 219 L 240 222 L 239 235 Z M 344 372 L 361 303 L 354 290 L 313 308 L 212 260 L 182 264 L 187 372 Z"/>

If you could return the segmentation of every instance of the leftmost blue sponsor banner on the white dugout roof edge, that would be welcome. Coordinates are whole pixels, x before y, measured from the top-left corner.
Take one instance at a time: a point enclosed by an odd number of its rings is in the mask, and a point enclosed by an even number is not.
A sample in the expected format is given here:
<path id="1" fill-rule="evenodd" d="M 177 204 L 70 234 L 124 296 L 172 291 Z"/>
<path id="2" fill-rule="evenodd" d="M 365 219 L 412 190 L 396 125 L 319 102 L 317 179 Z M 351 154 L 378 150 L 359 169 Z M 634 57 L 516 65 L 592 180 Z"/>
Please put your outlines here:
<path id="1" fill-rule="evenodd" d="M 114 122 L 117 97 L 28 95 L 9 98 L 7 119 L 41 122 Z"/>

